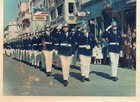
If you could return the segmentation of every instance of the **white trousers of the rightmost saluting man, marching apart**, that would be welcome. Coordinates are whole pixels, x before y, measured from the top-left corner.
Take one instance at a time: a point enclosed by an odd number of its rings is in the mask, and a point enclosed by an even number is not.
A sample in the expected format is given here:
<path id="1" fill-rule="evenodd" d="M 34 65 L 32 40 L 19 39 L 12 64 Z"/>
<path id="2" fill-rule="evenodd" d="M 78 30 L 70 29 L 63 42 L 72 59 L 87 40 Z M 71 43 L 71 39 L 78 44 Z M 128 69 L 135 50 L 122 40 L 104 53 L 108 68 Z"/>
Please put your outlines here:
<path id="1" fill-rule="evenodd" d="M 119 53 L 109 52 L 109 55 L 111 61 L 112 76 L 116 77 L 118 71 Z"/>

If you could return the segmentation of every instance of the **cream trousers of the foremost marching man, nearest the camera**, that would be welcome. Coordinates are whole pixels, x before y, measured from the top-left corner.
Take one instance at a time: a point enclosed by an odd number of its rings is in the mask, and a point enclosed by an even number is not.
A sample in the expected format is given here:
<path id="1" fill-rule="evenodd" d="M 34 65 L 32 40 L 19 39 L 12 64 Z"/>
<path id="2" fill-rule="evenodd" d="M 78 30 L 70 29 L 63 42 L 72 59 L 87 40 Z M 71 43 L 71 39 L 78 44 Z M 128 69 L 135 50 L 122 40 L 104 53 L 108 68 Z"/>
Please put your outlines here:
<path id="1" fill-rule="evenodd" d="M 68 80 L 72 56 L 60 55 L 60 60 L 61 60 L 62 71 L 63 71 L 63 79 Z"/>

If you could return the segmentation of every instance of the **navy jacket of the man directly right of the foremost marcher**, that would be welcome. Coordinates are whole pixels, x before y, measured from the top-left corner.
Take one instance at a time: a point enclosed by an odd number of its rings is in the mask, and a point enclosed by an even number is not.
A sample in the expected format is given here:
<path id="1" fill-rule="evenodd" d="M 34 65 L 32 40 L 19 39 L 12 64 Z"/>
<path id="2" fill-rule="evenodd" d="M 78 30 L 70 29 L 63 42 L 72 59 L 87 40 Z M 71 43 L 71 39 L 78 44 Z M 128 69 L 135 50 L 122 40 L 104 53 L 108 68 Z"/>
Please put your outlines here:
<path id="1" fill-rule="evenodd" d="M 90 49 L 87 49 L 86 47 L 81 47 L 83 45 L 89 45 Z M 80 34 L 78 39 L 78 53 L 80 55 L 92 56 L 92 49 L 94 48 L 95 45 L 96 45 L 96 41 L 92 33 L 89 33 L 88 37 L 86 37 L 82 33 Z"/>

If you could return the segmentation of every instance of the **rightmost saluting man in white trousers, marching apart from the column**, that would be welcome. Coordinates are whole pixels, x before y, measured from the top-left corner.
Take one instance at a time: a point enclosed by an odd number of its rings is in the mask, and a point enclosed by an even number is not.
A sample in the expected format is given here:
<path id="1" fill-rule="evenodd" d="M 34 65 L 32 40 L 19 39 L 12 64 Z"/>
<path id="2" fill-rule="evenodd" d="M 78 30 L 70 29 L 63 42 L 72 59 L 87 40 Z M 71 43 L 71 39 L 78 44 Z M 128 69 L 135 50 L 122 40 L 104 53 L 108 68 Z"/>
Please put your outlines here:
<path id="1" fill-rule="evenodd" d="M 106 32 L 103 34 L 104 38 L 109 39 L 109 55 L 112 68 L 112 77 L 113 81 L 117 81 L 117 72 L 118 72 L 118 62 L 119 62 L 119 53 L 121 50 L 122 37 L 121 33 L 117 29 L 117 22 L 113 21 L 111 26 L 106 29 Z"/>

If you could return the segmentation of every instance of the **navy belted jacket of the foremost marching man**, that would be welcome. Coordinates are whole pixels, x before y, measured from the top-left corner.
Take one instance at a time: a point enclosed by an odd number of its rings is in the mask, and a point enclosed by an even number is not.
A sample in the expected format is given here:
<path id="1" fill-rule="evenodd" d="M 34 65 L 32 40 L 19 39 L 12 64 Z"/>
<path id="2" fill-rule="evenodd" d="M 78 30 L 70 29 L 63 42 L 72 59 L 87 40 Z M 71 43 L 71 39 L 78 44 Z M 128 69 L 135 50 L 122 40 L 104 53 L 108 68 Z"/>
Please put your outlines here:
<path id="1" fill-rule="evenodd" d="M 58 53 L 64 56 L 71 56 L 74 50 L 74 42 L 73 36 L 70 33 L 66 36 L 66 34 L 62 32 L 59 36 L 60 48 Z"/>

